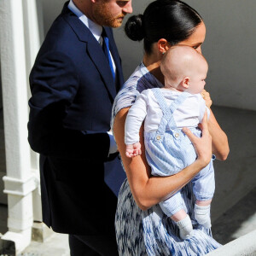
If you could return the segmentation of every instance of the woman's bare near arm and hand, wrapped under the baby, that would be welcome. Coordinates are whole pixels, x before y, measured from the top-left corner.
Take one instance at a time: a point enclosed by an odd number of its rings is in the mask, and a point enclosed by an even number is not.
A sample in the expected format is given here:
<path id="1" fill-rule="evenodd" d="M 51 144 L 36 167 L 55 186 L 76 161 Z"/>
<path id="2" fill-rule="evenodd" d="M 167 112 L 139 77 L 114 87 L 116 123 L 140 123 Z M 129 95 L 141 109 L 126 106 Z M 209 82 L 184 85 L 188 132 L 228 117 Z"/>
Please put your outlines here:
<path id="1" fill-rule="evenodd" d="M 138 207 L 142 210 L 147 210 L 149 207 L 163 201 L 168 195 L 174 194 L 177 190 L 183 188 L 203 167 L 207 166 L 212 157 L 212 139 L 207 129 L 207 117 L 205 115 L 202 122 L 201 138 L 195 137 L 191 131 L 184 129 L 184 132 L 195 146 L 198 155 L 197 160 L 175 175 L 169 177 L 153 177 L 150 174 L 150 167 L 145 156 L 143 127 L 140 131 L 140 143 L 142 144 L 143 154 L 132 159 L 125 156 L 125 119 L 128 109 L 121 109 L 116 115 L 113 132 L 125 166 L 131 193 Z"/>

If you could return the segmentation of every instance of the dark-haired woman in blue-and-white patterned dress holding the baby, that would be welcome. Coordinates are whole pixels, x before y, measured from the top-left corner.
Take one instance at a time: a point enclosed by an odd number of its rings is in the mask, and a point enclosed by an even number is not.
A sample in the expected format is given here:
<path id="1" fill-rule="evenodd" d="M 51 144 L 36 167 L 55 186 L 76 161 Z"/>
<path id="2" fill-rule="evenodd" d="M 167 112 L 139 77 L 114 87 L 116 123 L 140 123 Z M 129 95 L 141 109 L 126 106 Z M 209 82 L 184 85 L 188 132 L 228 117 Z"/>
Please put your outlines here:
<path id="1" fill-rule="evenodd" d="M 143 62 L 126 81 L 113 104 L 113 132 L 125 167 L 127 179 L 119 192 L 116 212 L 116 236 L 119 255 L 204 255 L 220 245 L 212 238 L 210 228 L 194 218 L 195 195 L 190 182 L 206 167 L 215 154 L 225 160 L 229 154 L 227 137 L 210 110 L 201 121 L 201 137 L 184 129 L 195 147 L 197 159 L 181 172 L 167 177 L 152 176 L 145 156 L 143 127 L 140 131 L 142 154 L 133 158 L 125 155 L 125 119 L 143 90 L 161 88 L 165 84 L 160 61 L 174 45 L 186 45 L 201 53 L 206 26 L 201 16 L 182 1 L 156 0 L 143 15 L 134 15 L 125 25 L 126 35 L 134 41 L 143 40 Z M 208 108 L 212 101 L 202 92 Z M 159 203 L 178 190 L 185 211 L 191 218 L 194 233 L 189 239 L 179 236 L 177 225 L 162 212 Z"/>

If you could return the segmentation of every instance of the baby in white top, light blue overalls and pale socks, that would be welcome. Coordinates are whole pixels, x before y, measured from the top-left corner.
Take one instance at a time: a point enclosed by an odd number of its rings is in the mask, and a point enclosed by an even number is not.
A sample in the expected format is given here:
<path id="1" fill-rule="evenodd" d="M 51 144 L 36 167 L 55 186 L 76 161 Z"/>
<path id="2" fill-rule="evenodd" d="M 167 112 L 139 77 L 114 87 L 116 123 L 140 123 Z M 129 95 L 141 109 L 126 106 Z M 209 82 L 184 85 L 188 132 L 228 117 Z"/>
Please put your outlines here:
<path id="1" fill-rule="evenodd" d="M 208 65 L 205 58 L 189 46 L 174 46 L 160 64 L 165 87 L 143 90 L 130 108 L 125 121 L 126 156 L 141 154 L 139 130 L 144 120 L 146 157 L 154 176 L 170 176 L 196 160 L 193 144 L 182 129 L 188 127 L 201 137 L 198 124 L 210 111 L 201 96 L 206 84 Z M 212 160 L 194 179 L 195 219 L 211 227 L 210 204 L 214 194 Z M 191 219 L 178 191 L 160 202 L 160 207 L 177 224 L 182 239 L 193 236 Z"/>

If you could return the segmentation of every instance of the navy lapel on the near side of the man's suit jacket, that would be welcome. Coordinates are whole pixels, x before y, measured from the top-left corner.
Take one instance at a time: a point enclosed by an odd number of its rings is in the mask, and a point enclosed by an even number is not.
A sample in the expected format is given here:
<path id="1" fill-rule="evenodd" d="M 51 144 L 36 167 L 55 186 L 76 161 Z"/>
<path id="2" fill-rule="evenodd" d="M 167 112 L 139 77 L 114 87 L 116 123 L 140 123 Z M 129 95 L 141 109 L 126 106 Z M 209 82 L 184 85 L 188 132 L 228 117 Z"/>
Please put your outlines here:
<path id="1" fill-rule="evenodd" d="M 96 38 L 92 35 L 89 28 L 83 24 L 79 18 L 73 14 L 73 12 L 67 8 L 66 3 L 62 10 L 63 18 L 72 27 L 73 32 L 76 33 L 81 42 L 87 43 L 87 53 L 90 56 L 91 61 L 94 62 L 96 69 L 102 76 L 110 96 L 112 99 L 116 96 L 115 85 L 113 82 L 113 76 L 111 69 L 108 65 L 106 56 L 103 53 L 101 45 L 96 41 Z M 84 47 L 85 50 L 85 47 Z M 115 61 L 116 62 L 116 61 Z"/>

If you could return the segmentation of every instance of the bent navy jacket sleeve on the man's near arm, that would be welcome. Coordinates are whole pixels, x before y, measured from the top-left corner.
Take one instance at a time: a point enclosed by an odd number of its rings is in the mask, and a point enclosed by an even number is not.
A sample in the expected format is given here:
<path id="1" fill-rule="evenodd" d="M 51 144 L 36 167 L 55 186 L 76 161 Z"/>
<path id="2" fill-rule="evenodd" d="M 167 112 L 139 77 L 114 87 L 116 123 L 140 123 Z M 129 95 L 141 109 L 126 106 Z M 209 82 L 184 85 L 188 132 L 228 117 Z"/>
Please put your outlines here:
<path id="1" fill-rule="evenodd" d="M 30 85 L 28 142 L 34 151 L 69 159 L 108 160 L 106 131 L 76 131 L 62 124 L 79 90 L 79 76 L 67 55 L 49 52 L 39 57 Z"/>

